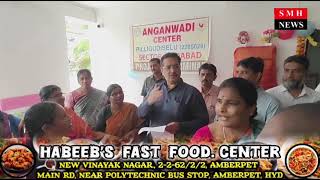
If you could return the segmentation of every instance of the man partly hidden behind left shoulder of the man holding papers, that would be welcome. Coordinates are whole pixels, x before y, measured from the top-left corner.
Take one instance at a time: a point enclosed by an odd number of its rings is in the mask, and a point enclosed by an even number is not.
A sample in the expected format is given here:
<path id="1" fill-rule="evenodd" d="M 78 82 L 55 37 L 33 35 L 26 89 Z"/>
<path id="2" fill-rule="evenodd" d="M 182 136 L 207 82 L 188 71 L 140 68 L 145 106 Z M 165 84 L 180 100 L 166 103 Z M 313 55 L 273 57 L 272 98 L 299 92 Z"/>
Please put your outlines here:
<path id="1" fill-rule="evenodd" d="M 164 81 L 164 77 L 162 76 L 161 69 L 160 69 L 160 59 L 152 58 L 149 61 L 149 65 L 150 65 L 152 75 L 147 77 L 143 83 L 143 87 L 141 91 L 141 96 L 143 97 L 147 95 L 147 93 L 150 91 L 150 89 L 153 88 L 153 86 L 156 83 Z"/>

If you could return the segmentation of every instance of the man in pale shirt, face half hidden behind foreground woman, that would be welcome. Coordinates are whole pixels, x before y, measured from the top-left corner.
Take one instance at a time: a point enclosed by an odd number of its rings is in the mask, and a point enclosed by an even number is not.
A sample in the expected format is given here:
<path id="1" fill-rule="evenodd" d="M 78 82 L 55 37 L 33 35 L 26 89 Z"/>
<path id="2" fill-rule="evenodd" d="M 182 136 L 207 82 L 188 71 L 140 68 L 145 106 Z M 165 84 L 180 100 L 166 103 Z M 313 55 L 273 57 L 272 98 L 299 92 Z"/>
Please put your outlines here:
<path id="1" fill-rule="evenodd" d="M 264 124 L 280 111 L 280 102 L 260 87 L 264 63 L 259 57 L 249 57 L 239 61 L 236 76 L 246 79 L 257 87 L 257 116 L 254 119 Z"/>

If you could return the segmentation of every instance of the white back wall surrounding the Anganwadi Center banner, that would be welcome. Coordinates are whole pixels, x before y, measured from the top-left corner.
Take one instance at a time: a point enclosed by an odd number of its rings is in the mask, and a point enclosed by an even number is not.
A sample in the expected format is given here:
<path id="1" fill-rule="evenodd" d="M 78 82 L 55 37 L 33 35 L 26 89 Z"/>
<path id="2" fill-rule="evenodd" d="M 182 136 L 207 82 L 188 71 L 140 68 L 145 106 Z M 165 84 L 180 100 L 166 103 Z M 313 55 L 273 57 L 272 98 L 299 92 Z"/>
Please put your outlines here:
<path id="1" fill-rule="evenodd" d="M 238 47 L 235 39 L 240 31 L 249 32 L 251 45 L 261 45 L 262 31 L 274 27 L 274 8 L 299 6 L 309 8 L 309 19 L 319 25 L 319 2 L 136 2 L 99 9 L 97 20 L 104 23 L 104 28 L 95 32 L 93 37 L 95 81 L 102 89 L 110 83 L 119 83 L 124 88 L 125 100 L 138 105 L 143 80 L 149 73 L 131 72 L 130 27 L 210 16 L 212 44 L 209 61 L 218 68 L 215 83 L 220 84 L 232 76 L 233 52 Z M 280 81 L 282 62 L 287 56 L 295 54 L 296 39 L 277 39 L 275 44 Z M 182 77 L 190 84 L 199 83 L 197 73 L 183 73 Z"/>

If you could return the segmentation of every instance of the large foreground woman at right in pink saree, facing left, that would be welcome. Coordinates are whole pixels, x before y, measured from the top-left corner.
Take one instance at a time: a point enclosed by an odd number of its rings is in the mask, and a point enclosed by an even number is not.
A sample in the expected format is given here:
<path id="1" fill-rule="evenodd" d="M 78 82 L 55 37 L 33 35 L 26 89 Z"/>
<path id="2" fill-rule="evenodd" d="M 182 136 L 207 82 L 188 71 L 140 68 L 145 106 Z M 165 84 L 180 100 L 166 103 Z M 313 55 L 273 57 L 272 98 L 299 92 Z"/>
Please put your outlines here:
<path id="1" fill-rule="evenodd" d="M 257 91 L 254 85 L 242 78 L 230 78 L 222 82 L 216 103 L 216 119 L 200 128 L 191 143 L 241 144 L 254 141 L 263 123 L 254 120 Z"/>

